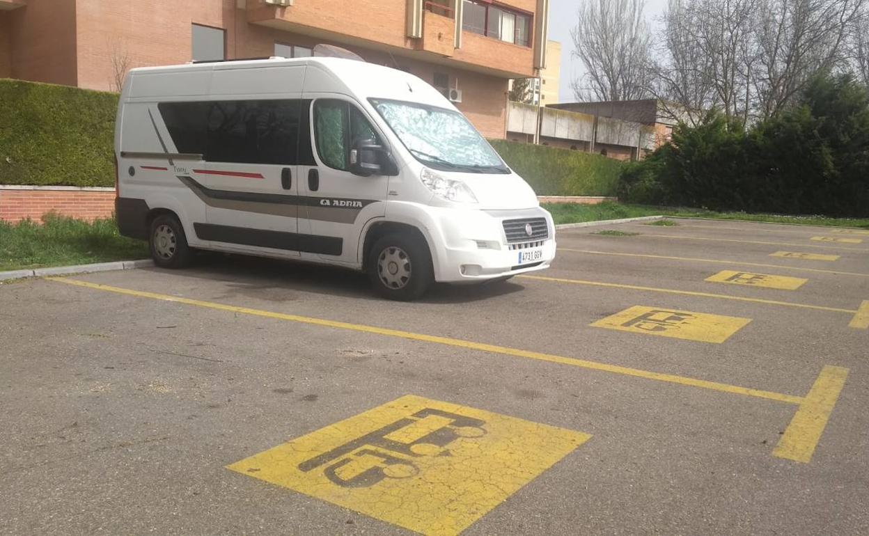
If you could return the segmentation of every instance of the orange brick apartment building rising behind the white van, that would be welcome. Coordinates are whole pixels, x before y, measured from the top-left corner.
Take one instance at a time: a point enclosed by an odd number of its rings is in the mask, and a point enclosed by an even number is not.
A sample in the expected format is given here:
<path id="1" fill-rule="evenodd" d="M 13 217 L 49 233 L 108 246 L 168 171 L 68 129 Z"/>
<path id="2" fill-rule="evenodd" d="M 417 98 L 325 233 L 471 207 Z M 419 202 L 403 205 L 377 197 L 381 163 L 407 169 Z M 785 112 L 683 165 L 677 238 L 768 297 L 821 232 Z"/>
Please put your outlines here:
<path id="1" fill-rule="evenodd" d="M 132 67 L 306 56 L 405 69 L 504 137 L 507 81 L 546 61 L 548 0 L 0 0 L 0 77 L 116 90 Z M 460 102 L 461 101 L 461 102 Z"/>

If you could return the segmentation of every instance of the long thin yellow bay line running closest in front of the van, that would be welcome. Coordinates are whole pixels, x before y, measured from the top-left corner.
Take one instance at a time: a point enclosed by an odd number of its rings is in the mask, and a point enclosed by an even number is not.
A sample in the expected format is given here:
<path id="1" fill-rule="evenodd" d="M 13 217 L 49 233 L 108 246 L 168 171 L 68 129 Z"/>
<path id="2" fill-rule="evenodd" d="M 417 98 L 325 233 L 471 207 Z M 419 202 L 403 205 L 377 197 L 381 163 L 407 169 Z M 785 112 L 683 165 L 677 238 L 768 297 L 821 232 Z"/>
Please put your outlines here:
<path id="1" fill-rule="evenodd" d="M 762 398 L 762 399 L 766 399 L 766 400 L 776 400 L 779 402 L 786 402 L 789 404 L 799 404 L 799 402 L 801 402 L 803 400 L 802 397 L 793 396 L 792 394 L 773 393 L 772 391 L 763 391 L 760 389 L 753 389 L 751 387 L 733 386 L 733 385 L 728 385 L 726 383 L 719 383 L 717 381 L 698 380 L 696 378 L 688 378 L 687 376 L 678 376 L 675 374 L 662 374 L 662 373 L 651 372 L 651 371 L 647 371 L 647 370 L 640 370 L 639 368 L 620 367 L 618 365 L 610 365 L 608 363 L 601 363 L 600 361 L 587 361 L 587 360 L 574 359 L 571 357 L 562 357 L 561 355 L 542 354 L 540 352 L 531 352 L 528 350 L 521 350 L 518 348 L 502 347 L 502 346 L 496 346 L 493 344 L 484 344 L 481 342 L 462 341 L 461 339 L 450 339 L 448 337 L 440 337 L 437 335 L 415 334 L 415 333 L 411 333 L 408 331 L 401 331 L 398 329 L 375 328 L 374 326 L 365 326 L 362 324 L 351 324 L 348 322 L 329 321 L 329 320 L 323 320 L 323 319 L 319 319 L 319 318 L 299 316 L 296 314 L 284 314 L 284 313 L 275 313 L 272 311 L 263 311 L 261 309 L 242 308 L 242 307 L 236 307 L 234 305 L 226 305 L 226 304 L 222 304 L 222 303 L 216 303 L 213 301 L 190 300 L 189 298 L 179 298 L 177 296 L 170 296 L 168 294 L 155 294 L 152 292 L 143 292 L 141 290 L 130 290 L 129 288 L 110 287 L 109 285 L 101 285 L 99 283 L 91 283 L 89 281 L 77 281 L 74 279 L 66 279 L 66 278 L 62 278 L 62 277 L 46 277 L 45 279 L 49 280 L 49 281 L 57 281 L 57 282 L 61 282 L 61 283 L 66 283 L 68 285 L 76 285 L 78 287 L 95 288 L 97 290 L 114 292 L 116 294 L 127 294 L 130 296 L 138 296 L 140 298 L 149 298 L 152 300 L 183 303 L 185 305 L 194 305 L 194 306 L 202 307 L 202 308 L 210 308 L 210 309 L 216 309 L 216 310 L 220 310 L 220 311 L 229 311 L 231 313 L 239 313 L 239 314 L 250 314 L 253 316 L 261 316 L 261 317 L 265 317 L 265 318 L 273 318 L 273 319 L 283 320 L 283 321 L 294 321 L 294 322 L 300 322 L 302 324 L 312 324 L 315 326 L 324 326 L 327 328 L 348 329 L 351 331 L 362 332 L 362 333 L 387 335 L 390 337 L 398 337 L 401 339 L 408 339 L 410 341 L 433 342 L 435 344 L 442 344 L 445 346 L 461 347 L 461 348 L 467 348 L 469 350 L 479 350 L 481 352 L 488 352 L 490 354 L 512 355 L 514 357 L 524 357 L 527 359 L 533 359 L 533 360 L 537 360 L 537 361 L 547 361 L 550 363 L 558 363 L 560 365 L 569 365 L 571 367 L 587 368 L 590 370 L 597 370 L 597 371 L 608 372 L 608 373 L 613 373 L 613 374 L 624 374 L 627 376 L 634 376 L 636 378 L 645 378 L 646 380 L 658 380 L 658 381 L 665 381 L 667 383 L 675 383 L 675 384 L 684 385 L 684 386 L 701 387 L 701 388 L 710 389 L 713 391 L 720 391 L 722 393 L 744 394 L 746 396 L 753 396 L 756 398 Z"/>

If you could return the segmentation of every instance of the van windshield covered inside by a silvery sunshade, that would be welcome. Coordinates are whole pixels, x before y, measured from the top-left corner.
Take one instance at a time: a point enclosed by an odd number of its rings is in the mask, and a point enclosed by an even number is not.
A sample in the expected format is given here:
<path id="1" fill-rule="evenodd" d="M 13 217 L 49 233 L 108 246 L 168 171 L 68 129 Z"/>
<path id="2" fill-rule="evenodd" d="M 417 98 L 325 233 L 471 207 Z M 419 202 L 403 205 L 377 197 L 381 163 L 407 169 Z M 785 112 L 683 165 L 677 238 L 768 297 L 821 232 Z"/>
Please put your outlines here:
<path id="1" fill-rule="evenodd" d="M 420 162 L 447 171 L 509 173 L 492 146 L 451 109 L 371 99 L 377 113 Z"/>

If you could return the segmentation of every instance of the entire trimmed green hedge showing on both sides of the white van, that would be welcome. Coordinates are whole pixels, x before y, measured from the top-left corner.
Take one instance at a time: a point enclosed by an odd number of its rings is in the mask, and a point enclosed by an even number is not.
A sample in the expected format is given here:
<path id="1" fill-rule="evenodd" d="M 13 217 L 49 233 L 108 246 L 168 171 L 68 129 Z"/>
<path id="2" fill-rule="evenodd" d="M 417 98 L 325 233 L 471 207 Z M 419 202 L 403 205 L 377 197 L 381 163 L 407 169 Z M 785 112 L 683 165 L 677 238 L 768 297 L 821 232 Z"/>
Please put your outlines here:
<path id="1" fill-rule="evenodd" d="M 113 186 L 117 95 L 0 79 L 0 184 Z M 491 140 L 538 195 L 615 195 L 621 162 Z"/>

